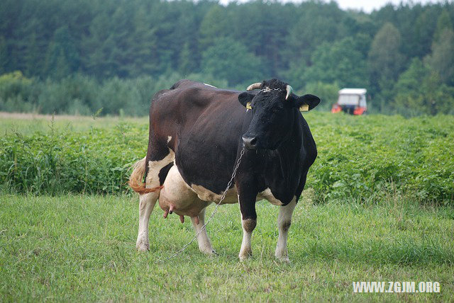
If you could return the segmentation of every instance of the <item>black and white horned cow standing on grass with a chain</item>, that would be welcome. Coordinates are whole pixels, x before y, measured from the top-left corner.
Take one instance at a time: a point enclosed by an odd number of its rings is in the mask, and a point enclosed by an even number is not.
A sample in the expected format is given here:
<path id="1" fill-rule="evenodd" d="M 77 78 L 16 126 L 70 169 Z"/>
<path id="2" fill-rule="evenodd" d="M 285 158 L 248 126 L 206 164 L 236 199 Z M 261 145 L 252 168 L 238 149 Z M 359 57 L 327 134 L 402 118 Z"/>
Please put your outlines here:
<path id="1" fill-rule="evenodd" d="M 148 222 L 157 199 L 164 217 L 175 212 L 192 219 L 200 251 L 216 253 L 204 226 L 205 209 L 221 202 L 240 203 L 243 241 L 240 261 L 252 256 L 251 235 L 257 222 L 255 202 L 279 205 L 275 257 L 289 261 L 287 233 L 317 149 L 300 110 L 312 110 L 320 98 L 297 96 L 292 86 L 270 79 L 246 91 L 230 91 L 181 80 L 159 91 L 150 105 L 148 151 L 131 173 L 139 193 L 136 247 L 149 248 Z"/>

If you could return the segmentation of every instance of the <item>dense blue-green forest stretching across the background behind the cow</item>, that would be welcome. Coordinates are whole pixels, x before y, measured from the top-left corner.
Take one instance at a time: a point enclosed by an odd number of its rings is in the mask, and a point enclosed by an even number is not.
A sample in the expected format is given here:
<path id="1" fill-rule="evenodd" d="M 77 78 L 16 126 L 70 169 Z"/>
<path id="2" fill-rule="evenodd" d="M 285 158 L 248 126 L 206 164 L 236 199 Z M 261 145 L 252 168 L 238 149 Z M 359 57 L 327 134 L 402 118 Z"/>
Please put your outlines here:
<path id="1" fill-rule="evenodd" d="M 454 4 L 3 0 L 0 111 L 145 115 L 179 79 L 245 89 L 277 77 L 328 110 L 367 88 L 371 113 L 454 114 Z"/>

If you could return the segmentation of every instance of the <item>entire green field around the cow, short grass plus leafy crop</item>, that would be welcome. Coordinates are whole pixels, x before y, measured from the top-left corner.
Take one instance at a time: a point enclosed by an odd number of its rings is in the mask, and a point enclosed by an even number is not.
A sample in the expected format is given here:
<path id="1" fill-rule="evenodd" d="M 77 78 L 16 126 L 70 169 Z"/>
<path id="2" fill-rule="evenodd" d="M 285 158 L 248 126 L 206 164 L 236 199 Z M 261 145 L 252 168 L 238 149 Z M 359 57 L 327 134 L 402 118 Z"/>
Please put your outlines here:
<path id="1" fill-rule="evenodd" d="M 159 207 L 150 251 L 135 251 L 138 198 L 126 181 L 146 152 L 146 118 L 1 116 L 0 301 L 452 300 L 454 118 L 305 117 L 319 157 L 287 264 L 273 256 L 278 207 L 267 202 L 244 263 L 238 205 L 219 207 L 207 227 L 218 256 L 192 244 L 165 261 L 194 231 Z M 441 287 L 358 294 L 355 281 Z"/>

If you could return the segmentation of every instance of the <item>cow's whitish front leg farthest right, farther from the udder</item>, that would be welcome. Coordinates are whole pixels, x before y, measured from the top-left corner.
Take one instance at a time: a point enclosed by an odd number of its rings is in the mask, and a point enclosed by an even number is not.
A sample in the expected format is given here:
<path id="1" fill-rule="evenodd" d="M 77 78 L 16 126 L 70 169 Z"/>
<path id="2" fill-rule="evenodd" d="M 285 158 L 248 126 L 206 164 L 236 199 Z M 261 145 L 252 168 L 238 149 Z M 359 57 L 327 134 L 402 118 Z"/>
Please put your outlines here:
<path id="1" fill-rule="evenodd" d="M 279 209 L 279 216 L 277 217 L 277 228 L 279 229 L 279 238 L 277 239 L 277 246 L 275 256 L 280 261 L 289 262 L 289 255 L 287 252 L 287 235 L 289 233 L 290 224 L 292 224 L 292 215 L 295 206 L 297 205 L 296 198 L 293 198 L 289 204 L 281 206 Z"/>

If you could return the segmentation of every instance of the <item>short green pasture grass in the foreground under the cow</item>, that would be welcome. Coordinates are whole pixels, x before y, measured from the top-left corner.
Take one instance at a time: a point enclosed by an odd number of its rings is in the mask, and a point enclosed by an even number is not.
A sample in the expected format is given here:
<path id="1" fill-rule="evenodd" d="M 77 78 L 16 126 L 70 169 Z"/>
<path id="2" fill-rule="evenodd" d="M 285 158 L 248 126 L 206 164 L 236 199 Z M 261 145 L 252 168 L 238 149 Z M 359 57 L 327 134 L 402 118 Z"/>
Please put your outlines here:
<path id="1" fill-rule="evenodd" d="M 138 199 L 0 196 L 0 301 L 450 301 L 454 208 L 400 196 L 380 203 L 312 204 L 305 192 L 289 231 L 292 263 L 273 258 L 278 207 L 258 203 L 253 258 L 240 263 L 238 205 L 208 233 L 219 256 L 192 244 L 190 220 L 150 219 L 150 251 L 135 251 Z M 214 207 L 209 207 L 208 215 Z M 353 281 L 438 281 L 439 294 L 353 294 Z"/>

